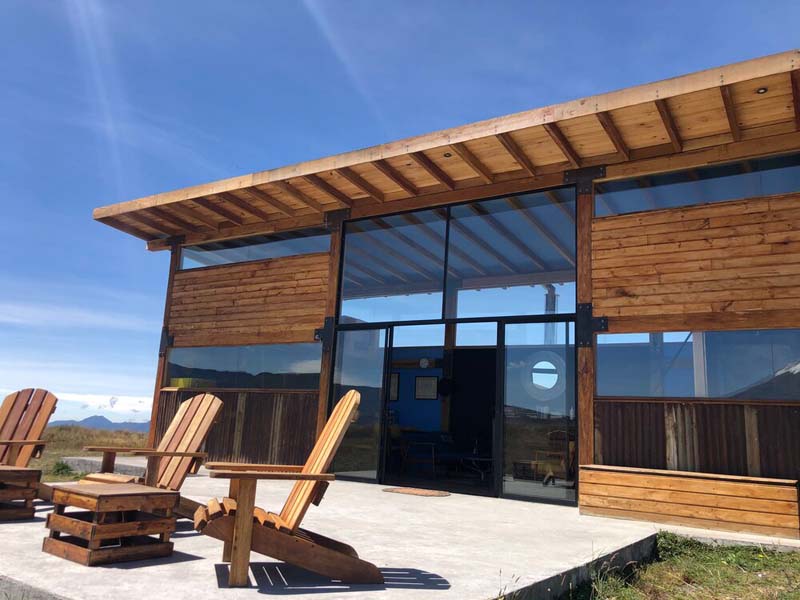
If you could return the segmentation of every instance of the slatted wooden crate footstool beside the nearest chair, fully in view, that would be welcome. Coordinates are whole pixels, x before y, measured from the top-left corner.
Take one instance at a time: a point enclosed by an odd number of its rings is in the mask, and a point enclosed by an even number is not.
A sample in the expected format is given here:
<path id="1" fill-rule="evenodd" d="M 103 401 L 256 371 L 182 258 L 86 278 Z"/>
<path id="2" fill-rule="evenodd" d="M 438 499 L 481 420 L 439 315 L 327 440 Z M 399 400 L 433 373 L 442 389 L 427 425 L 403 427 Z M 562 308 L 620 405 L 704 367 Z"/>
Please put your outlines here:
<path id="1" fill-rule="evenodd" d="M 44 538 L 44 552 L 87 566 L 172 554 L 169 535 L 175 531 L 171 515 L 178 492 L 129 483 L 52 488 L 54 509 L 47 517 L 50 536 Z M 67 512 L 67 507 L 83 510 Z"/>

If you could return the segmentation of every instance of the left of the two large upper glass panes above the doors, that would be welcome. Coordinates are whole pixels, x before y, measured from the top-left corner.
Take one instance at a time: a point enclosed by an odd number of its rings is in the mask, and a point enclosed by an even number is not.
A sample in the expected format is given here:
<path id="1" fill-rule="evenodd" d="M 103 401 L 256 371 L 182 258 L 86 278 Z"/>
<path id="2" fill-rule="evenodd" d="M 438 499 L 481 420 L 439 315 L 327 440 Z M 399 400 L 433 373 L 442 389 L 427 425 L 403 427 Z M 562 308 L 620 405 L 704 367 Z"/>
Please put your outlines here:
<path id="1" fill-rule="evenodd" d="M 444 210 L 345 225 L 341 321 L 440 319 Z"/>

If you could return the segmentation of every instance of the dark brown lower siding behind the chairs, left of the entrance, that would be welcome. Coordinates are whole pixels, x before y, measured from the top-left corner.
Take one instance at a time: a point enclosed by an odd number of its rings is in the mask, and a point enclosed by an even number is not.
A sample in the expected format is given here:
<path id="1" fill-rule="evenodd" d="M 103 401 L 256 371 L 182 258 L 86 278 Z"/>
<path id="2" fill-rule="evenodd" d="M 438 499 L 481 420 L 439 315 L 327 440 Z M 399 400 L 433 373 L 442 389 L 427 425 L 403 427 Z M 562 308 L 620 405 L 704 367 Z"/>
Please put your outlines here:
<path id="1" fill-rule="evenodd" d="M 161 390 L 156 443 L 183 400 L 199 390 Z M 222 411 L 206 440 L 208 459 L 302 465 L 314 445 L 317 390 L 212 390 Z"/>

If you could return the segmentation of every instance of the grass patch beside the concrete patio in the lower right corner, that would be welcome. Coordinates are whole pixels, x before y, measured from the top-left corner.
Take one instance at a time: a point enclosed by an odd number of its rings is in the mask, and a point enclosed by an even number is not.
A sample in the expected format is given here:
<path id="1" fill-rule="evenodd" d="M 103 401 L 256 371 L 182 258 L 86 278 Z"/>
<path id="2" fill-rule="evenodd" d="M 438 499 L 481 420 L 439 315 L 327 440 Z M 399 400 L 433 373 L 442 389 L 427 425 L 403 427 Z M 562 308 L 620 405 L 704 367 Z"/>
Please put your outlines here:
<path id="1" fill-rule="evenodd" d="M 800 600 L 800 552 L 716 546 L 660 533 L 647 564 L 598 570 L 563 600 Z"/>

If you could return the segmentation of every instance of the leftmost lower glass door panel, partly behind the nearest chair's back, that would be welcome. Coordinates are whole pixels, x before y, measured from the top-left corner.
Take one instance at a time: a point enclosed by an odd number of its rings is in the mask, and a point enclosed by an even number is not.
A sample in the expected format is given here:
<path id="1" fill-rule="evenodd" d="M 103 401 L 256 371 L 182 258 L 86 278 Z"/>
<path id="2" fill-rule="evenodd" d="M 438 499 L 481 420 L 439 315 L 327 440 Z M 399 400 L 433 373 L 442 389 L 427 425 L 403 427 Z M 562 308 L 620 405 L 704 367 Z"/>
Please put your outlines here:
<path id="1" fill-rule="evenodd" d="M 334 471 L 350 477 L 378 477 L 386 330 L 340 331 L 333 374 L 334 402 L 348 390 L 361 393 L 358 418 L 336 453 Z"/>

